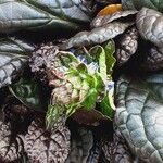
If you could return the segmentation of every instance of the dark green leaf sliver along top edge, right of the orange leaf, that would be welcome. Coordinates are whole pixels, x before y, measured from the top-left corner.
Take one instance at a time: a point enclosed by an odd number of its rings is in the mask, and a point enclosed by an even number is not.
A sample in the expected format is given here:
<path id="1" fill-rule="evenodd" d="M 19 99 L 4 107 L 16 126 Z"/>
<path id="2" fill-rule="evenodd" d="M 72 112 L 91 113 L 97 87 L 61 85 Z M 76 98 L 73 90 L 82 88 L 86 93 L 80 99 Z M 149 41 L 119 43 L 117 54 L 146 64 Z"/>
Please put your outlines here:
<path id="1" fill-rule="evenodd" d="M 163 12 L 162 0 L 122 0 L 124 10 L 140 10 L 143 7 Z"/>

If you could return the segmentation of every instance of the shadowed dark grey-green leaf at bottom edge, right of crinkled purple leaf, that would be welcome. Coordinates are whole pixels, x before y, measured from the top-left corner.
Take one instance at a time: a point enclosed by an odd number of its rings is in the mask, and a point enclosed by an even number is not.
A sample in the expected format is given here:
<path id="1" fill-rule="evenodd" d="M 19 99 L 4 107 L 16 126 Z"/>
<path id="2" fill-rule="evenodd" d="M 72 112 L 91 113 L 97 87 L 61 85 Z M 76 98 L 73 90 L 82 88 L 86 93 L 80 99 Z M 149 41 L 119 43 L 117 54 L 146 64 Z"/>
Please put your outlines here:
<path id="1" fill-rule="evenodd" d="M 93 133 L 83 127 L 72 129 L 71 151 L 65 163 L 98 163 L 100 149 L 95 143 Z M 97 149 L 98 148 L 98 149 Z"/>

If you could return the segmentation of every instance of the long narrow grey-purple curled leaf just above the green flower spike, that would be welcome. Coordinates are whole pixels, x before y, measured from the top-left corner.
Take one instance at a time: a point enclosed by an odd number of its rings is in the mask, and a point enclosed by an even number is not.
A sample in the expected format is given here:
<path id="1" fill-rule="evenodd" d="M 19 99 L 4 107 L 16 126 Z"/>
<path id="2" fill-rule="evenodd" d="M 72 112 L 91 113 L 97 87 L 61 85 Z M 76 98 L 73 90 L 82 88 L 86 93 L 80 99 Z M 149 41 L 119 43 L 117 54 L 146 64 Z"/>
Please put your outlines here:
<path id="1" fill-rule="evenodd" d="M 60 46 L 61 49 L 103 43 L 125 32 L 133 23 L 113 22 L 90 32 L 80 32 Z"/>

